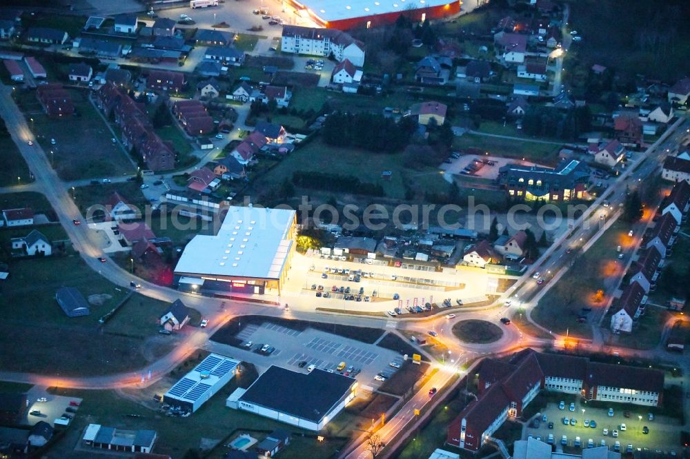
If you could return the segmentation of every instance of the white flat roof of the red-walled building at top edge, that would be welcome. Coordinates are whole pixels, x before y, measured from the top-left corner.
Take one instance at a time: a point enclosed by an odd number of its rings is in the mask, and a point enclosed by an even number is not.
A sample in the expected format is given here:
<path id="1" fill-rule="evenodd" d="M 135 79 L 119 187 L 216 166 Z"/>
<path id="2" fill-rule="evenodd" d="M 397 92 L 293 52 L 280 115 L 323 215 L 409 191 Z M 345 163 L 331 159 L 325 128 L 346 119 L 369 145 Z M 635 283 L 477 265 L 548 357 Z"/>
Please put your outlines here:
<path id="1" fill-rule="evenodd" d="M 450 3 L 448 0 L 293 0 L 308 8 L 324 21 L 339 21 L 355 17 L 373 16 L 391 12 L 405 12 L 421 8 L 435 8 Z"/>

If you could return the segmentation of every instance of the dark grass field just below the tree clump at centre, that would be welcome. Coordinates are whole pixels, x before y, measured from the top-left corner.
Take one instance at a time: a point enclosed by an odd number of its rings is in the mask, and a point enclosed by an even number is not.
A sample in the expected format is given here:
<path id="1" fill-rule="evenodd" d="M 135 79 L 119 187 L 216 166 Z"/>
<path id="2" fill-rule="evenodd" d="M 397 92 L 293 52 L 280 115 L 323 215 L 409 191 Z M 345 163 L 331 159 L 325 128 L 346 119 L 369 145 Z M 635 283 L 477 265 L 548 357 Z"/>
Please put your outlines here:
<path id="1" fill-rule="evenodd" d="M 366 167 L 362 167 L 366 164 Z M 420 192 L 442 193 L 449 190 L 449 183 L 444 181 L 435 168 L 426 170 L 408 170 L 402 164 L 402 153 L 379 154 L 366 150 L 340 148 L 322 143 L 319 139 L 299 147 L 262 176 L 255 183 L 255 189 L 268 189 L 284 179 L 292 179 L 295 171 L 331 172 L 340 175 L 357 176 L 360 181 L 380 183 L 386 197 L 404 198 L 404 181 Z M 381 179 L 384 170 L 393 171 L 390 181 Z"/>

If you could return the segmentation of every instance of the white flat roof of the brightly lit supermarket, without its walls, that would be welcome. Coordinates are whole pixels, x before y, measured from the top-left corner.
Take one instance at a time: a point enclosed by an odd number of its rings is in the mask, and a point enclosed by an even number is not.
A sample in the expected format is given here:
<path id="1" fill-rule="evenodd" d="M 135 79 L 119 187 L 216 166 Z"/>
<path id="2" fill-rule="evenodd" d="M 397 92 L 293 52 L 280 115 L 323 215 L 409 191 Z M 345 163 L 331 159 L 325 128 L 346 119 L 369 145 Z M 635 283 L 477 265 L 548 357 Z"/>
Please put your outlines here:
<path id="1" fill-rule="evenodd" d="M 194 236 L 175 272 L 198 276 L 278 279 L 293 241 L 294 210 L 229 207 L 218 234 Z"/>

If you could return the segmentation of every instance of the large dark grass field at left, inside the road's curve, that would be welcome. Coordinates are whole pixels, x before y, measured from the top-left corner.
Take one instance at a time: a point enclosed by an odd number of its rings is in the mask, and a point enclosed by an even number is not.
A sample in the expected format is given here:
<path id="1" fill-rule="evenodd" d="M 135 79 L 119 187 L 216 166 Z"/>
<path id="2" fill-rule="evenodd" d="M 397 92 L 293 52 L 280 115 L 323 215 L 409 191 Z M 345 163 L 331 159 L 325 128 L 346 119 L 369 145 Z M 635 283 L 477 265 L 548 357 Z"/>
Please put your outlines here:
<path id="1" fill-rule="evenodd" d="M 0 312 L 5 318 L 0 334 L 5 343 L 14 343 L 0 353 L 0 367 L 7 371 L 31 371 L 41 374 L 92 376 L 138 369 L 148 362 L 144 325 L 129 322 L 125 316 L 155 316 L 161 303 L 143 296 L 130 298 L 123 317 L 113 318 L 113 332 L 99 329 L 98 319 L 115 307 L 126 295 L 86 266 L 78 256 L 35 258 L 15 261 L 11 275 L 3 285 Z M 92 305 L 89 316 L 68 318 L 55 302 L 59 287 L 77 287 L 88 300 L 92 294 L 110 296 L 101 305 Z M 156 334 L 152 329 L 152 334 Z M 158 336 L 156 336 L 157 339 Z M 169 336 L 157 353 L 172 343 Z M 66 357 L 68 356 L 68 357 Z"/>

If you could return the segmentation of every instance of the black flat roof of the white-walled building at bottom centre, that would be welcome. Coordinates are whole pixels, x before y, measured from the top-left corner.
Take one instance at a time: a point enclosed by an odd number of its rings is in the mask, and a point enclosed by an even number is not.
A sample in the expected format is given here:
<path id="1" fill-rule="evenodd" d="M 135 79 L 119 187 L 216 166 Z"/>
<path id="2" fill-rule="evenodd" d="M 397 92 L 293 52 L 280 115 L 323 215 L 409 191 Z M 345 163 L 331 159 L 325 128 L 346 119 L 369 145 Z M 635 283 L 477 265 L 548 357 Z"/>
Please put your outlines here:
<path id="1" fill-rule="evenodd" d="M 356 383 L 354 378 L 322 369 L 300 373 L 271 365 L 239 401 L 320 422 Z"/>

